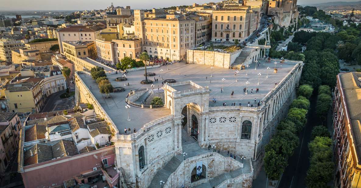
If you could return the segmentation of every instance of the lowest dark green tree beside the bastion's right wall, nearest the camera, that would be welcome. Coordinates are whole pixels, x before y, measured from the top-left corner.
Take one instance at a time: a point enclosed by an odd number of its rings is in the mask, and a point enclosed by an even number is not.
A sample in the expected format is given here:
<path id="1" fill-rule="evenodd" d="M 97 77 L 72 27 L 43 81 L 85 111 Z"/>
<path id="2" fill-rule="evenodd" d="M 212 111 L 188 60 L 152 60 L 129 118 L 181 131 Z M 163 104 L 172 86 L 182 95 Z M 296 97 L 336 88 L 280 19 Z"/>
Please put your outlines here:
<path id="1" fill-rule="evenodd" d="M 287 159 L 274 150 L 267 151 L 264 157 L 264 167 L 271 180 L 278 180 L 287 166 Z"/>

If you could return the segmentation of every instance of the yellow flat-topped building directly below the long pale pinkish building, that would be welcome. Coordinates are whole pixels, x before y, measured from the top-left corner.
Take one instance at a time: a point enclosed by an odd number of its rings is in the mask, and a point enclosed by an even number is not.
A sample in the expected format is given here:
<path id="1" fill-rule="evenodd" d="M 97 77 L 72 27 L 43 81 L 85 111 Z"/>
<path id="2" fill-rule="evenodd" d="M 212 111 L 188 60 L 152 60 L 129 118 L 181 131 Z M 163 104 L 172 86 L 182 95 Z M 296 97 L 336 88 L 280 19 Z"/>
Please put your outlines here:
<path id="1" fill-rule="evenodd" d="M 65 56 L 74 61 L 74 57 L 91 59 L 96 58 L 95 42 L 69 42 L 63 41 L 62 47 L 64 49 Z"/>

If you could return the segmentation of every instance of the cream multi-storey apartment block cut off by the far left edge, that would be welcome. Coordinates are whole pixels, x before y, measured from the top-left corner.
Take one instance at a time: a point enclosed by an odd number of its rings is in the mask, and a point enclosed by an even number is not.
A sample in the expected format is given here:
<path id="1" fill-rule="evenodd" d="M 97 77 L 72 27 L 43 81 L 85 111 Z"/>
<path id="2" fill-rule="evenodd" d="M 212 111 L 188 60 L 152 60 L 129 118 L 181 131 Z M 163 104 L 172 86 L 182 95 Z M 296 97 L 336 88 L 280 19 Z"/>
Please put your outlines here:
<path id="1" fill-rule="evenodd" d="M 11 62 L 11 51 L 22 47 L 20 40 L 0 39 L 0 60 Z"/>

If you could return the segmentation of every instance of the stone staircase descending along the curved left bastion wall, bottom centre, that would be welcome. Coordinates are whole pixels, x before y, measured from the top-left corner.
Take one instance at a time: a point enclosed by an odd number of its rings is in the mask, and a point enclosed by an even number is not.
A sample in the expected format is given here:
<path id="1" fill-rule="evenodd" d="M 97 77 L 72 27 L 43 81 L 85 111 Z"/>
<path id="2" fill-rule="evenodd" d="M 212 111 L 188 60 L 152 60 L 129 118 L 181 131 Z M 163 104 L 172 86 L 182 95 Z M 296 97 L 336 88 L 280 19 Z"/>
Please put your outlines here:
<path id="1" fill-rule="evenodd" d="M 182 162 L 179 161 L 176 157 L 171 158 L 170 161 L 164 166 L 164 168 L 158 170 L 148 188 L 159 187 L 159 181 L 167 182 L 170 174 L 177 170 L 181 163 Z"/>

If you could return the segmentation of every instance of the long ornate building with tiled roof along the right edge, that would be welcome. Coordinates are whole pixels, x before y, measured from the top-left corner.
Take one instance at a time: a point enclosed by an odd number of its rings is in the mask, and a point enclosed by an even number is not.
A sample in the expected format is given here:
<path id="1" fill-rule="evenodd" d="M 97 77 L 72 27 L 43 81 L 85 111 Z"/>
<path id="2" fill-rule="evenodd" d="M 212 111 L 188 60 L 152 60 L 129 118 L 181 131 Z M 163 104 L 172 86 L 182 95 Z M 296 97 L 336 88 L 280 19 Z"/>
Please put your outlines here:
<path id="1" fill-rule="evenodd" d="M 333 101 L 333 133 L 336 171 L 334 187 L 360 187 L 361 119 L 360 72 L 337 75 Z"/>

